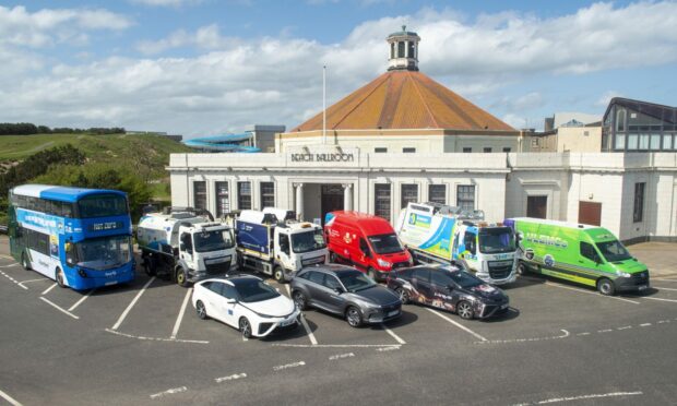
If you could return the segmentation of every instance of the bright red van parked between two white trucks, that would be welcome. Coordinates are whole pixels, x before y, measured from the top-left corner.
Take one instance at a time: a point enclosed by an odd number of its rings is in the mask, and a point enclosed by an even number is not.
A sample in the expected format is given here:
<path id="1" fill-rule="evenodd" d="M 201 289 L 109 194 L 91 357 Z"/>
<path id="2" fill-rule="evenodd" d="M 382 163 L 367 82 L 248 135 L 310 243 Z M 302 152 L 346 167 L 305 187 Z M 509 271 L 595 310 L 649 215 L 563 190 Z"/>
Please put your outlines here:
<path id="1" fill-rule="evenodd" d="M 391 270 L 413 265 L 388 220 L 359 212 L 331 212 L 325 216 L 324 236 L 332 262 L 344 262 L 366 272 L 372 279 L 385 279 Z"/>

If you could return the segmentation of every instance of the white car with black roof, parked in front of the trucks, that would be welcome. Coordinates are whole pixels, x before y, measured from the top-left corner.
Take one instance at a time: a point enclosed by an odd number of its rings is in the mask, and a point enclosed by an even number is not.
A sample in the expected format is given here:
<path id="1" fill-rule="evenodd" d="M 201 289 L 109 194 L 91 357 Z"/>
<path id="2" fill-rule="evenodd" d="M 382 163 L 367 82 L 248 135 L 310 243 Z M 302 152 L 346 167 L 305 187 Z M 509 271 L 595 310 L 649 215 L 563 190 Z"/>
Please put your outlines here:
<path id="1" fill-rule="evenodd" d="M 300 310 L 294 301 L 256 276 L 199 282 L 192 302 L 200 319 L 222 321 L 246 338 L 265 337 L 275 329 L 295 329 L 299 324 Z"/>

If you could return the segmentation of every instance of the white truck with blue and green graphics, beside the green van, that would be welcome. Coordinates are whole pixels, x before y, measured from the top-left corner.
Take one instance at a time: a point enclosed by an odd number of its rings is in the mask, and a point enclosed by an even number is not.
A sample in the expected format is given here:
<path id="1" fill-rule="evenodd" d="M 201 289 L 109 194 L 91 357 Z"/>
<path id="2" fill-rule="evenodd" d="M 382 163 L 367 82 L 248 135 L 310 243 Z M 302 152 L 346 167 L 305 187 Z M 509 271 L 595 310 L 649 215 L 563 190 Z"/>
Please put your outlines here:
<path id="1" fill-rule="evenodd" d="M 409 203 L 395 226 L 417 262 L 452 263 L 492 285 L 514 282 L 514 231 L 484 222 L 484 212 L 438 203 Z"/>

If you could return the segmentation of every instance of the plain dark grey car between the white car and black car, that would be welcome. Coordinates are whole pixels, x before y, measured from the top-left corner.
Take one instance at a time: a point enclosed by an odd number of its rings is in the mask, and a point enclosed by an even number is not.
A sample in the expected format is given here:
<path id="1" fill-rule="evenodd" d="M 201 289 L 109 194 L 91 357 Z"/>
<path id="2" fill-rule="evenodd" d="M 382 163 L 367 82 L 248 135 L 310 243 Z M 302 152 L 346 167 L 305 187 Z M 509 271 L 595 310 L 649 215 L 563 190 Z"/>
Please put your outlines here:
<path id="1" fill-rule="evenodd" d="M 402 313 L 402 301 L 394 291 L 345 265 L 299 271 L 292 279 L 292 299 L 301 310 L 313 307 L 344 317 L 353 327 L 383 323 Z"/>

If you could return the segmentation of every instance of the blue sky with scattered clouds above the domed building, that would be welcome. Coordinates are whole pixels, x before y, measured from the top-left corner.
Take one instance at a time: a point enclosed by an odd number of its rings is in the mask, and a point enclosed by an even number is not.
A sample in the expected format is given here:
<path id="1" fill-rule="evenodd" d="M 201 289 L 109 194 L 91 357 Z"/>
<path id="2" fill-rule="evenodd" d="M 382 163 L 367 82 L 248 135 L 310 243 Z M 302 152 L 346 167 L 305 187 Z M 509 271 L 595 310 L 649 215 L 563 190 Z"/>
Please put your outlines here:
<path id="1" fill-rule="evenodd" d="M 515 128 L 677 106 L 677 1 L 118 0 L 0 2 L 0 122 L 186 138 L 292 129 L 388 67 L 418 33 L 428 76 Z"/>

